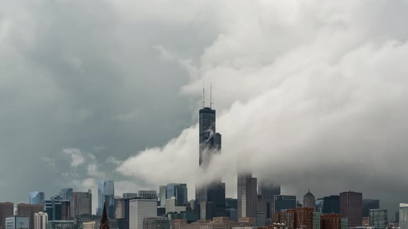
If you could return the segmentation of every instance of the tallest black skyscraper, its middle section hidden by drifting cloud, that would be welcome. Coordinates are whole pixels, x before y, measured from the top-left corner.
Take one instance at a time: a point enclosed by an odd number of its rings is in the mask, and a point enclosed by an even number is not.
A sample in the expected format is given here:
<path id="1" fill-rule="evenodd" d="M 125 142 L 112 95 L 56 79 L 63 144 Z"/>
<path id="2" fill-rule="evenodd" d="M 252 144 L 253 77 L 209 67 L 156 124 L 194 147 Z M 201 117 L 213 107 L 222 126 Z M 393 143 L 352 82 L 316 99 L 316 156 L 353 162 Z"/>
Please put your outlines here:
<path id="1" fill-rule="evenodd" d="M 210 101 L 211 104 L 212 101 Z M 216 132 L 216 112 L 211 106 L 210 108 L 204 106 L 198 114 L 200 143 L 198 165 L 201 169 L 205 169 L 210 164 L 212 155 L 221 153 L 221 134 Z M 202 173 L 201 176 L 203 175 Z M 203 210 L 197 209 L 196 212 L 199 215 L 206 215 L 206 218 L 209 215 L 225 216 L 225 183 L 221 182 L 221 178 L 218 177 L 209 184 L 196 187 L 196 206 L 208 206 L 204 205 L 203 202 L 214 202 L 210 206 L 215 205 L 215 211 L 212 210 L 211 214 L 204 214 Z"/>

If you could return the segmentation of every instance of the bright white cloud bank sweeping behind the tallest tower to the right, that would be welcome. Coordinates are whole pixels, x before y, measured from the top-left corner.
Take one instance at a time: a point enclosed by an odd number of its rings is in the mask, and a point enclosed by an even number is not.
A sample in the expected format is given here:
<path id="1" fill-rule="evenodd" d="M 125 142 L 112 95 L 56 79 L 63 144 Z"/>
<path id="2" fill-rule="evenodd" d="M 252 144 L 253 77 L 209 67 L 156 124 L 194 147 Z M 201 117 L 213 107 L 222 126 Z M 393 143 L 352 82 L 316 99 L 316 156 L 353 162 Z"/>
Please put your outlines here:
<path id="1" fill-rule="evenodd" d="M 218 36 L 182 88 L 198 104 L 203 82 L 215 84 L 223 149 L 207 176 L 223 175 L 229 195 L 236 192 L 237 170 L 252 170 L 282 183 L 288 194 L 351 189 L 395 209 L 408 188 L 408 32 L 396 25 L 407 20 L 407 2 L 216 5 Z M 194 187 L 197 167 L 193 125 L 163 147 L 138 152 L 118 171 L 152 186 L 185 181 Z"/>

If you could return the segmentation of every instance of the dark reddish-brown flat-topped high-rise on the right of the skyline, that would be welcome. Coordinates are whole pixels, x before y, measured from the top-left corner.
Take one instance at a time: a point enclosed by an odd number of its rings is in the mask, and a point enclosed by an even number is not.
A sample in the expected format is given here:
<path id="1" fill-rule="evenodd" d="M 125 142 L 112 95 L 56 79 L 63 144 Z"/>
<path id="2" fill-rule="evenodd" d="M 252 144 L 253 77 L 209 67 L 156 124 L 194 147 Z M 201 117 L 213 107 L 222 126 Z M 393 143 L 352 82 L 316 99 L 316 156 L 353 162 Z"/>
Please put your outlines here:
<path id="1" fill-rule="evenodd" d="M 343 219 L 349 220 L 349 228 L 362 225 L 362 193 L 340 193 L 340 213 Z"/>

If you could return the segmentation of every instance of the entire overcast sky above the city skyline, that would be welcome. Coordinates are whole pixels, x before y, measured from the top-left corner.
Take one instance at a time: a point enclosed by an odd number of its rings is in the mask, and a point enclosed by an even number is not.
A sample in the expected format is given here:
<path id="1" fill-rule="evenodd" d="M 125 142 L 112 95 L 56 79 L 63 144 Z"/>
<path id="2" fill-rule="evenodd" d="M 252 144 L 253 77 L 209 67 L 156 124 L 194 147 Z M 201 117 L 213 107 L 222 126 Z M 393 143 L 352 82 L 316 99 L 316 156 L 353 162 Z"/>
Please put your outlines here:
<path id="1" fill-rule="evenodd" d="M 194 197 L 214 85 L 223 174 L 408 201 L 408 1 L 3 1 L 0 201 L 115 179 Z M 207 94 L 207 101 L 208 101 Z M 93 202 L 96 208 L 96 201 Z"/>

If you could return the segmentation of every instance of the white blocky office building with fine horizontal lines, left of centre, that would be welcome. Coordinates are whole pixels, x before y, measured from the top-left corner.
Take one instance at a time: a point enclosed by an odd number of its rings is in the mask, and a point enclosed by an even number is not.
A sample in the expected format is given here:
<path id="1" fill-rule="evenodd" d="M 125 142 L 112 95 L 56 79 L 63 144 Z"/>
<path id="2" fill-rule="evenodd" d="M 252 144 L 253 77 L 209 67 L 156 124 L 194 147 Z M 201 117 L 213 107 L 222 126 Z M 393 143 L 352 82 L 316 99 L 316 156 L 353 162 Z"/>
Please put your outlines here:
<path id="1" fill-rule="evenodd" d="M 129 200 L 129 229 L 142 229 L 147 217 L 157 217 L 156 199 Z"/>

